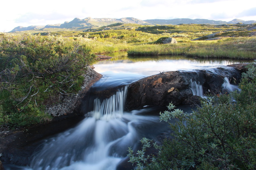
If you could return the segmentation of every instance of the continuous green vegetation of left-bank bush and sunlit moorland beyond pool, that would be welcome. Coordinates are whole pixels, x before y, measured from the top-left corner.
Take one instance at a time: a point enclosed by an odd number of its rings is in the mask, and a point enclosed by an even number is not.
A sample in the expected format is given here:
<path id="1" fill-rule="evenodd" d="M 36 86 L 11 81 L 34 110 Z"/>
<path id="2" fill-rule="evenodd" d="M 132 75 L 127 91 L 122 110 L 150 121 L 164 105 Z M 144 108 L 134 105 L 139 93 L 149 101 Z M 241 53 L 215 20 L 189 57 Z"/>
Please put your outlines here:
<path id="1" fill-rule="evenodd" d="M 25 34 L 24 34 L 25 33 Z M 192 41 L 216 33 L 213 41 Z M 95 29 L 43 28 L 0 35 L 0 124 L 44 122 L 46 101 L 77 92 L 95 54 L 125 51 L 132 60 L 158 55 L 256 59 L 255 25 L 111 24 Z M 158 44 L 174 37 L 177 44 Z"/>

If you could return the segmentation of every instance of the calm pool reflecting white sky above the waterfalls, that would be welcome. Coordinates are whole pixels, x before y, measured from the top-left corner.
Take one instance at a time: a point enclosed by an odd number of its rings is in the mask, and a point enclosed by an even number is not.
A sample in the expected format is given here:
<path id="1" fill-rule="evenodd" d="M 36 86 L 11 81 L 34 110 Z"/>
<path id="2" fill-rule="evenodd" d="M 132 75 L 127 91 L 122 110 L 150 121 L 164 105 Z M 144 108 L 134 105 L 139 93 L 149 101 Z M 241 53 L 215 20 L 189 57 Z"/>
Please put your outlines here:
<path id="1" fill-rule="evenodd" d="M 136 58 L 123 55 L 94 64 L 94 70 L 104 76 L 97 86 L 118 86 L 164 71 L 210 69 L 242 62 L 239 60 L 202 60 L 185 56 Z"/>

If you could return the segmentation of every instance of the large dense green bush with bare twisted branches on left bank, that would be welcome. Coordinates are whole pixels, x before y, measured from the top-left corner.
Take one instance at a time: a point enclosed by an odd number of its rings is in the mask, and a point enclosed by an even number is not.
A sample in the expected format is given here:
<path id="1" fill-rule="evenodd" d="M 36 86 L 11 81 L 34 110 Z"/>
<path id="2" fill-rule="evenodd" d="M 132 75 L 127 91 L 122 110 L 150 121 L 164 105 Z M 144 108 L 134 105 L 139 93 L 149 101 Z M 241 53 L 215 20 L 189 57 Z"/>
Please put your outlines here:
<path id="1" fill-rule="evenodd" d="M 29 125 L 50 119 L 44 105 L 76 93 L 86 66 L 95 60 L 75 39 L 0 35 L 0 124 Z"/>

